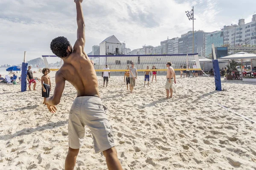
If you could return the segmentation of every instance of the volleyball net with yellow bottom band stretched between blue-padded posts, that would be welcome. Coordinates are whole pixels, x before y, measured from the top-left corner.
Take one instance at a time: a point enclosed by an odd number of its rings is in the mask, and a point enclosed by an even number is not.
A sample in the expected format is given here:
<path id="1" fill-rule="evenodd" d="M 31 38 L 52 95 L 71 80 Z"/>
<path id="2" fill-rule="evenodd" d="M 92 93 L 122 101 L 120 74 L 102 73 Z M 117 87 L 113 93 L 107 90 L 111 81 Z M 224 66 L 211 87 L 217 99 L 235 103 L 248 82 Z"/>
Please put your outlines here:
<path id="1" fill-rule="evenodd" d="M 50 68 L 47 57 L 42 56 L 45 65 Z M 126 71 L 131 63 L 134 62 L 134 67 L 137 71 L 166 71 L 166 63 L 171 62 L 175 71 L 183 70 L 201 70 L 198 54 L 160 54 L 160 55 L 96 55 L 88 56 L 94 62 L 95 71 L 106 71 L 104 68 L 108 65 L 110 70 L 122 72 Z M 61 65 L 60 65 L 61 66 Z M 152 69 L 155 66 L 156 69 Z M 149 70 L 147 70 L 149 67 Z M 56 71 L 59 68 L 50 68 Z"/>

